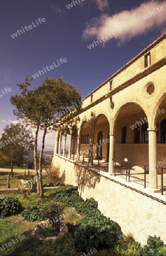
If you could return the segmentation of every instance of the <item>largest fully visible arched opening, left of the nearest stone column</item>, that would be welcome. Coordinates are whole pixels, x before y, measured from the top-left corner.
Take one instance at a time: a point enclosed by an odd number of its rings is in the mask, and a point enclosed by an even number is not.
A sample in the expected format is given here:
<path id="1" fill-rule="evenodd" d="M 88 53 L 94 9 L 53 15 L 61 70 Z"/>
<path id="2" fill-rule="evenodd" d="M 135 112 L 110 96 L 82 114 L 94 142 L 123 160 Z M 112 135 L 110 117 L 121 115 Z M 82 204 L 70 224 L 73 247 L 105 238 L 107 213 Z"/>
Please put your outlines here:
<path id="1" fill-rule="evenodd" d="M 145 119 L 144 119 L 145 118 Z M 142 106 L 136 102 L 127 102 L 117 110 L 113 118 L 112 134 L 115 135 L 115 158 L 130 162 L 148 164 L 148 130 L 143 140 L 142 126 L 147 123 L 147 115 Z M 135 129 L 139 126 L 138 141 L 135 140 Z M 124 135 L 125 128 L 125 138 Z M 122 132 L 123 131 L 123 132 Z M 110 132 L 111 134 L 111 132 Z"/>

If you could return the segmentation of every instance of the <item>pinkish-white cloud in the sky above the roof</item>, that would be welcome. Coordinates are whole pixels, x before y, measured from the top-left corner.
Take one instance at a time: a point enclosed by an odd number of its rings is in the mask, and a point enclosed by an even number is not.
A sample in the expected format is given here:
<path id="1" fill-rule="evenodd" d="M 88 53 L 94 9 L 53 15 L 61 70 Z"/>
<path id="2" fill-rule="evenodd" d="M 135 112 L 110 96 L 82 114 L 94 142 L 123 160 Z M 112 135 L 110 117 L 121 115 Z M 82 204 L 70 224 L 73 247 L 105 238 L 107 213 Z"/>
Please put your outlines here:
<path id="1" fill-rule="evenodd" d="M 164 7 L 164 10 L 157 11 L 156 9 L 161 6 Z M 153 11 L 155 15 L 150 15 L 150 11 Z M 115 39 L 119 43 L 124 43 L 134 36 L 152 30 L 154 27 L 160 27 L 166 20 L 165 13 L 166 4 L 164 6 L 164 2 L 151 1 L 142 3 L 139 7 L 129 11 L 121 11 L 121 13 L 114 14 L 113 16 L 102 14 L 99 18 L 93 18 L 89 23 L 86 23 L 82 37 L 84 39 L 97 39 L 98 37 L 109 35 L 109 33 L 113 34 L 115 29 L 121 29 L 122 33 L 115 34 Z M 145 20 L 143 16 L 148 14 L 150 18 Z"/>

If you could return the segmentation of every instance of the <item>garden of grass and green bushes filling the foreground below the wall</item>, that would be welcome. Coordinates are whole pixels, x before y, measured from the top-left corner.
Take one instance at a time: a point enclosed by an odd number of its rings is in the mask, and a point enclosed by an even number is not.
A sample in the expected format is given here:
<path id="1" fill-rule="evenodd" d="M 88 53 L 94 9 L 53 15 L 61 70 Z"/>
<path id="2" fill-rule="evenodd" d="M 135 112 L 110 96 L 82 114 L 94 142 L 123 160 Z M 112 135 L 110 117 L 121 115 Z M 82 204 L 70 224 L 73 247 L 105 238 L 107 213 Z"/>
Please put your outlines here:
<path id="1" fill-rule="evenodd" d="M 166 247 L 160 238 L 149 237 L 147 245 L 142 247 L 132 237 L 124 237 L 117 222 L 103 216 L 98 210 L 97 201 L 93 198 L 82 200 L 77 187 L 61 185 L 47 191 L 45 198 L 40 200 L 36 193 L 25 191 L 14 192 L 10 197 L 11 199 L 3 200 L 6 217 L 3 212 L 0 218 L 0 247 L 19 235 L 24 235 L 25 238 L 8 249 L 0 249 L 0 255 L 80 256 L 88 255 L 90 249 L 96 249 L 93 253 L 96 256 L 166 255 Z M 9 217 L 9 212 L 18 215 Z M 63 238 L 39 241 L 36 236 L 32 236 L 35 224 L 46 219 L 52 220 L 55 216 L 62 216 L 61 221 L 68 225 L 69 232 Z M 42 229 L 42 235 L 56 236 L 61 221 L 57 221 L 55 225 L 46 225 Z"/>

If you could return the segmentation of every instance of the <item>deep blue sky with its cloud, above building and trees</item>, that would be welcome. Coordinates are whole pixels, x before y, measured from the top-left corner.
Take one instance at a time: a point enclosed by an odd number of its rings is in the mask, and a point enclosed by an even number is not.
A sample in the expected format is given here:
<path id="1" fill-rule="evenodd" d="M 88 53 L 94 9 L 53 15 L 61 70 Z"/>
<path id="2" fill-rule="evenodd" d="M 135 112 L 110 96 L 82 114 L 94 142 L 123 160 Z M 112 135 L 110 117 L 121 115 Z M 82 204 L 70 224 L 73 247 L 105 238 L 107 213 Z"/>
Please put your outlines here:
<path id="1" fill-rule="evenodd" d="M 85 97 L 166 28 L 166 1 L 77 2 L 78 5 L 75 3 L 68 9 L 71 0 L 1 0 L 0 133 L 7 124 L 16 121 L 10 97 L 19 93 L 16 84 L 23 82 L 27 75 L 31 77 L 65 58 L 67 62 L 34 79 L 31 89 L 42 84 L 47 76 L 62 75 Z M 157 9 L 161 6 L 162 10 Z M 155 15 L 150 15 L 150 11 Z M 146 14 L 150 18 L 143 18 Z M 45 18 L 45 22 L 40 24 L 39 18 Z M 31 29 L 26 31 L 24 27 L 30 25 Z M 12 38 L 22 27 L 25 32 Z M 122 32 L 88 48 L 94 40 L 109 33 L 113 35 L 116 29 Z M 5 88 L 11 88 L 11 92 L 6 93 Z M 46 147 L 53 147 L 53 139 L 53 134 L 47 135 Z"/>

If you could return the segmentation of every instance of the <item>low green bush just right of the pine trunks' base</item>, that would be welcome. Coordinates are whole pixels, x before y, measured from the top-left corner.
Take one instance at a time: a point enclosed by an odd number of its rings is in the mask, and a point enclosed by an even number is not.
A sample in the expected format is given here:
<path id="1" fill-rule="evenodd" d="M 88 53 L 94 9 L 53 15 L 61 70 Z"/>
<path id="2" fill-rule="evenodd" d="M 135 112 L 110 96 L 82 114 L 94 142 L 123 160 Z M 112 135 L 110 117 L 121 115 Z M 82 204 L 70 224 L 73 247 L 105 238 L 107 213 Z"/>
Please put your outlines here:
<path id="1" fill-rule="evenodd" d="M 84 201 L 78 193 L 78 187 L 74 187 L 73 185 L 61 185 L 56 188 L 54 193 L 51 193 L 48 198 L 64 203 L 68 207 L 74 207 L 77 202 Z"/>

